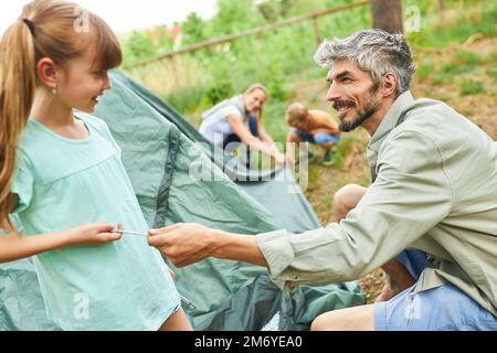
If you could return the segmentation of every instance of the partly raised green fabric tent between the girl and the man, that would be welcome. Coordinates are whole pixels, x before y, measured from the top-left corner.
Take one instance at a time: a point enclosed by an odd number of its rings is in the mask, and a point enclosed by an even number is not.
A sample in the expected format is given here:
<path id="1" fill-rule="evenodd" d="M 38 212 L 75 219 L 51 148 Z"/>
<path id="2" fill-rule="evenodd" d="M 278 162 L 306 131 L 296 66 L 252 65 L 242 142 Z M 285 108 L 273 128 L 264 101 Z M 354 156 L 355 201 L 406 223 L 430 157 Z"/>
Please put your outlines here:
<path id="1" fill-rule="evenodd" d="M 184 222 L 257 234 L 320 226 L 290 171 L 246 170 L 121 72 L 112 81 L 95 115 L 123 149 L 150 227 Z M 266 269 L 245 263 L 208 258 L 173 270 L 178 290 L 197 307 L 184 308 L 197 330 L 306 330 L 321 312 L 364 302 L 357 282 L 283 292 Z M 0 330 L 56 329 L 46 318 L 31 261 L 1 265 Z"/>

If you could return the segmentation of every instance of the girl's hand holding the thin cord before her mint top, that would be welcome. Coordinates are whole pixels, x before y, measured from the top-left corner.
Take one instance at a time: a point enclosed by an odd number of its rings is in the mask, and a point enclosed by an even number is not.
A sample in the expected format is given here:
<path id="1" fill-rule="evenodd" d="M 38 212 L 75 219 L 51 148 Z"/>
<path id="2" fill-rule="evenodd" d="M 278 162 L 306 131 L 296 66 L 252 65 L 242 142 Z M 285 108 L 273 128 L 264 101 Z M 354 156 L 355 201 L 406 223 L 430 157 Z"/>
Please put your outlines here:
<path id="1" fill-rule="evenodd" d="M 121 224 L 118 225 L 121 229 Z M 123 233 L 112 233 L 114 224 L 92 223 L 67 231 L 71 245 L 99 246 L 110 242 L 119 240 Z"/>

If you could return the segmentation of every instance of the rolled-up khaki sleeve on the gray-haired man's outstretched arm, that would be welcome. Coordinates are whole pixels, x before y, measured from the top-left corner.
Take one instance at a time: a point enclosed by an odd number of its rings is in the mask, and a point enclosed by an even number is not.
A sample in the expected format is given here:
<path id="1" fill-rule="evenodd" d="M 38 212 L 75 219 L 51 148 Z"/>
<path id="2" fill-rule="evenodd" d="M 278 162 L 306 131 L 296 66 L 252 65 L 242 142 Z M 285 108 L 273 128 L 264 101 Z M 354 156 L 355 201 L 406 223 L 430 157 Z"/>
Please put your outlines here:
<path id="1" fill-rule="evenodd" d="M 292 289 L 353 280 L 425 235 L 447 216 L 454 197 L 442 156 L 419 132 L 390 136 L 379 151 L 377 180 L 340 224 L 257 235 L 273 281 Z"/>

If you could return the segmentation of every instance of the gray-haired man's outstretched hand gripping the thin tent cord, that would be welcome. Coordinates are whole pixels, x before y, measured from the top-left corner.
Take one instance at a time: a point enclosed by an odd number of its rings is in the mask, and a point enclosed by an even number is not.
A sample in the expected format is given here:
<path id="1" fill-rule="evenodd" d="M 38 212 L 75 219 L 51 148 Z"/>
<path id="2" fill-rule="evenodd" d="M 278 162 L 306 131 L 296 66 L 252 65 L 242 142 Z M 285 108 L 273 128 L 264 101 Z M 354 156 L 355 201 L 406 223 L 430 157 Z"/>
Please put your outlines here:
<path id="1" fill-rule="evenodd" d="M 148 244 L 157 247 L 177 267 L 198 263 L 212 255 L 210 229 L 199 224 L 176 224 L 148 232 Z"/>

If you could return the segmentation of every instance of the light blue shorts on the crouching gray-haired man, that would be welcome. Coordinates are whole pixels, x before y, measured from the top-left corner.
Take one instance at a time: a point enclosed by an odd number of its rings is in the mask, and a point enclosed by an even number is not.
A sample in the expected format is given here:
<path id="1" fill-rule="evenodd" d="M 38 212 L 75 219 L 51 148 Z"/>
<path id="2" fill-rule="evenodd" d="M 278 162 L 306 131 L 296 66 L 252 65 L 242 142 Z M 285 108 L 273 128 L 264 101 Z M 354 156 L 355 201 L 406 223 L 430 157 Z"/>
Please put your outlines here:
<path id="1" fill-rule="evenodd" d="M 374 304 L 377 331 L 496 331 L 497 318 L 452 284 Z"/>

